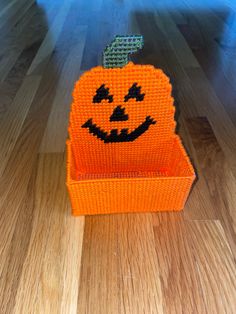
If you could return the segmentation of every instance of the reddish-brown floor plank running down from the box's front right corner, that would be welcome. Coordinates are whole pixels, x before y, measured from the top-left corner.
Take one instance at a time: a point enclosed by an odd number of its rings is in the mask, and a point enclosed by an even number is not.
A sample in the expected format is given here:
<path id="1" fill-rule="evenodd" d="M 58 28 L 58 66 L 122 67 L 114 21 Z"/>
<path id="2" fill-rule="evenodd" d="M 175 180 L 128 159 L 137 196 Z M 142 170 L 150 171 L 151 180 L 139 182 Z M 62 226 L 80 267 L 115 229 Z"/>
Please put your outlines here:
<path id="1" fill-rule="evenodd" d="M 164 313 L 209 313 L 182 213 L 154 217 Z"/>

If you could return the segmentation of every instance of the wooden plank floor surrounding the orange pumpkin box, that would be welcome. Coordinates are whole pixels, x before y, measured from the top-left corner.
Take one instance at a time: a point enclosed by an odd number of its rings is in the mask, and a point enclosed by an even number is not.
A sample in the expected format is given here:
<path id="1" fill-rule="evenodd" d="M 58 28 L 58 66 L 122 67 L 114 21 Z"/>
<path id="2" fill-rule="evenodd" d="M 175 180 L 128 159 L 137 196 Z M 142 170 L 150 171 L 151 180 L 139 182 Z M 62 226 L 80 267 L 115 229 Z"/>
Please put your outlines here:
<path id="1" fill-rule="evenodd" d="M 236 1 L 0 1 L 0 313 L 236 313 Z M 73 84 L 115 34 L 171 78 L 181 213 L 74 218 Z"/>

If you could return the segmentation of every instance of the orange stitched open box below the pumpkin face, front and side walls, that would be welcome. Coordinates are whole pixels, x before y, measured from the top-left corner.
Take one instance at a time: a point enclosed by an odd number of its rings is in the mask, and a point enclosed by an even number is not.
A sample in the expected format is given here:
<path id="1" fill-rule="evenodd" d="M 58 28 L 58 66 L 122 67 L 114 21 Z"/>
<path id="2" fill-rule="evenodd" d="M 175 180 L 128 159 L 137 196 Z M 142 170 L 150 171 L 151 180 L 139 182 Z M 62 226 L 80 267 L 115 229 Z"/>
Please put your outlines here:
<path id="1" fill-rule="evenodd" d="M 82 175 L 68 140 L 67 187 L 73 215 L 183 209 L 195 174 L 177 135 L 166 156 L 166 167 L 156 165 L 156 172 Z"/>

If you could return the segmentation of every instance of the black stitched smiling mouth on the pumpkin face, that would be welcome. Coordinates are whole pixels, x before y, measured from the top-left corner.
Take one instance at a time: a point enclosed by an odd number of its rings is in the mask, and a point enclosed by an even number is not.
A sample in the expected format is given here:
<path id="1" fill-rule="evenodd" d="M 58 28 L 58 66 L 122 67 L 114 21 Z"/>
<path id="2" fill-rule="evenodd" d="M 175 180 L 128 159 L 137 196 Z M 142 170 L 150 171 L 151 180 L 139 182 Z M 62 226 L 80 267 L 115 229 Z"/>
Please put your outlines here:
<path id="1" fill-rule="evenodd" d="M 81 127 L 87 128 L 89 130 L 89 133 L 96 136 L 104 143 L 116 143 L 133 142 L 134 140 L 136 140 L 136 138 L 145 133 L 149 129 L 151 124 L 156 124 L 156 121 L 150 116 L 147 116 L 145 121 L 130 133 L 128 133 L 129 129 L 121 129 L 119 134 L 118 129 L 113 129 L 110 133 L 103 131 L 99 126 L 93 123 L 92 119 L 89 119 Z"/>

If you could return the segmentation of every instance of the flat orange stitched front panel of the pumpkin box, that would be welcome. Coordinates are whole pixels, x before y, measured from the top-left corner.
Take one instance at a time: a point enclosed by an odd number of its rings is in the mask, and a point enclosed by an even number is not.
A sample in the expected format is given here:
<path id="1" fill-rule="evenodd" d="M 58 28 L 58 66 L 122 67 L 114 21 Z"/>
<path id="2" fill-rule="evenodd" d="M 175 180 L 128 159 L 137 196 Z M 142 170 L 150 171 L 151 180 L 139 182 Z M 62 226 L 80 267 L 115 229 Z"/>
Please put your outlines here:
<path id="1" fill-rule="evenodd" d="M 69 186 L 74 215 L 181 210 L 192 178 L 98 180 Z"/>

